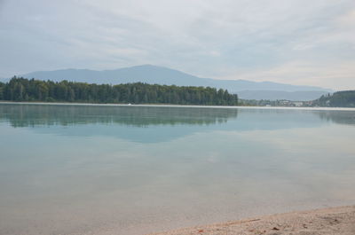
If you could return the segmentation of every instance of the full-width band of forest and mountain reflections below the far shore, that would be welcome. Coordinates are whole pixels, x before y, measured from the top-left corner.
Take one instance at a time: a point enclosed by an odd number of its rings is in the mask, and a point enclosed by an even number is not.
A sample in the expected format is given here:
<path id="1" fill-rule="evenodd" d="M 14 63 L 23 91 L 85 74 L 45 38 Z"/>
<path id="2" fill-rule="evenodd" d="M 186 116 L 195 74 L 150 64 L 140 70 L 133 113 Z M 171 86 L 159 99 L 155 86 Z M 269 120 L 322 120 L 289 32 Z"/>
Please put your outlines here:
<path id="1" fill-rule="evenodd" d="M 355 123 L 355 112 L 171 106 L 0 105 L 0 121 L 36 133 L 157 143 L 206 131 L 316 128 Z"/>

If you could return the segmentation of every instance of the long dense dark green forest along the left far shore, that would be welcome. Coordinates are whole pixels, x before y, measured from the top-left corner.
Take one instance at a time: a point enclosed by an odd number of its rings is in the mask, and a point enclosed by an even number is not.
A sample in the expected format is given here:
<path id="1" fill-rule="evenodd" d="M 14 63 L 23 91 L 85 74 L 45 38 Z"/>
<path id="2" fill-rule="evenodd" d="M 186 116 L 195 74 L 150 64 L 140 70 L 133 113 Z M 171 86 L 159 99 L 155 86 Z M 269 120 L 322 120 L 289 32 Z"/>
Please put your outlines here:
<path id="1" fill-rule="evenodd" d="M 238 96 L 210 87 L 178 87 L 142 82 L 108 85 L 51 82 L 13 77 L 0 82 L 0 100 L 116 104 L 236 106 Z"/>

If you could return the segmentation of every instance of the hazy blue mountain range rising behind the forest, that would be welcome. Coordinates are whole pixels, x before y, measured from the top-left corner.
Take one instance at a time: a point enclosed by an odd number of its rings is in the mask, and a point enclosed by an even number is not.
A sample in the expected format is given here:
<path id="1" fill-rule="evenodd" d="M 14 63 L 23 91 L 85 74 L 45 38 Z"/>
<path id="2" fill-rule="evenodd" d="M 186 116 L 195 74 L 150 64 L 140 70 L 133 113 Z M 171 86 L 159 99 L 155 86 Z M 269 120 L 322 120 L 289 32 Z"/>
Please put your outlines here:
<path id="1" fill-rule="evenodd" d="M 226 89 L 245 99 L 289 99 L 313 100 L 332 90 L 313 86 L 296 86 L 277 82 L 251 82 L 246 80 L 217 80 L 185 74 L 167 67 L 143 65 L 114 70 L 95 71 L 89 69 L 61 69 L 38 71 L 21 75 L 26 78 L 51 81 L 73 81 L 88 83 L 119 84 L 146 82 L 177 86 L 209 86 Z"/>

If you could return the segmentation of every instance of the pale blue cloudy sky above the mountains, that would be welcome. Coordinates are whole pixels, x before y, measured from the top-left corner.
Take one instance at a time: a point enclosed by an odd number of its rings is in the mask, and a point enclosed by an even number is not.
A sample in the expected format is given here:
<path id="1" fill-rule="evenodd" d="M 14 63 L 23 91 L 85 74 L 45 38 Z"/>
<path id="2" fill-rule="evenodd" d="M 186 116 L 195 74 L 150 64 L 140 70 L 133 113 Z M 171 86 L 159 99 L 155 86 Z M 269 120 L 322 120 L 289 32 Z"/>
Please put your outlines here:
<path id="1" fill-rule="evenodd" d="M 144 64 L 355 90 L 355 1 L 0 0 L 0 77 Z"/>

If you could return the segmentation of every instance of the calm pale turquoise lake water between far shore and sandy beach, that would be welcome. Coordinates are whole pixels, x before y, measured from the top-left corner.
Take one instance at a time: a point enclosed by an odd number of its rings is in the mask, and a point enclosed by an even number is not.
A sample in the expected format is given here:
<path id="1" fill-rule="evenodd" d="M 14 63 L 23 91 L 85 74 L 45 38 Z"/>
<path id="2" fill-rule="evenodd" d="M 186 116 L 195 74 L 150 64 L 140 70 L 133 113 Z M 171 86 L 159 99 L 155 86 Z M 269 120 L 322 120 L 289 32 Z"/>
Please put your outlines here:
<path id="1" fill-rule="evenodd" d="M 354 111 L 0 104 L 0 151 L 1 235 L 355 204 Z"/>

